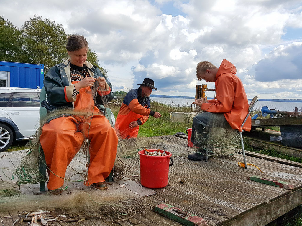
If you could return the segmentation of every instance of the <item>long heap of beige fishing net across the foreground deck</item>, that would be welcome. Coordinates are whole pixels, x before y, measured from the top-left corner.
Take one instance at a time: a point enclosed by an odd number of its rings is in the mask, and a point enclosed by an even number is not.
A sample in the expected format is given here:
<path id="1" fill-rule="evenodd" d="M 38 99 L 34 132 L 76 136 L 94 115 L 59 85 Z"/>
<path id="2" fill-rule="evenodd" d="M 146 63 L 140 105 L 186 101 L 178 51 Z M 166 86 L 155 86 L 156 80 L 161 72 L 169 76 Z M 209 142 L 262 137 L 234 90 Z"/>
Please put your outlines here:
<path id="1" fill-rule="evenodd" d="M 54 210 L 53 207 L 56 207 L 56 212 L 63 212 L 72 218 L 101 218 L 114 223 L 129 220 L 137 224 L 141 216 L 146 216 L 146 211 L 152 209 L 153 204 L 150 199 L 137 198 L 131 194 L 104 194 L 93 190 L 75 191 L 65 196 L 15 195 L 0 199 L 0 206 L 0 212 L 20 210 L 20 206 L 25 211 Z M 136 220 L 130 220 L 134 216 Z"/>

